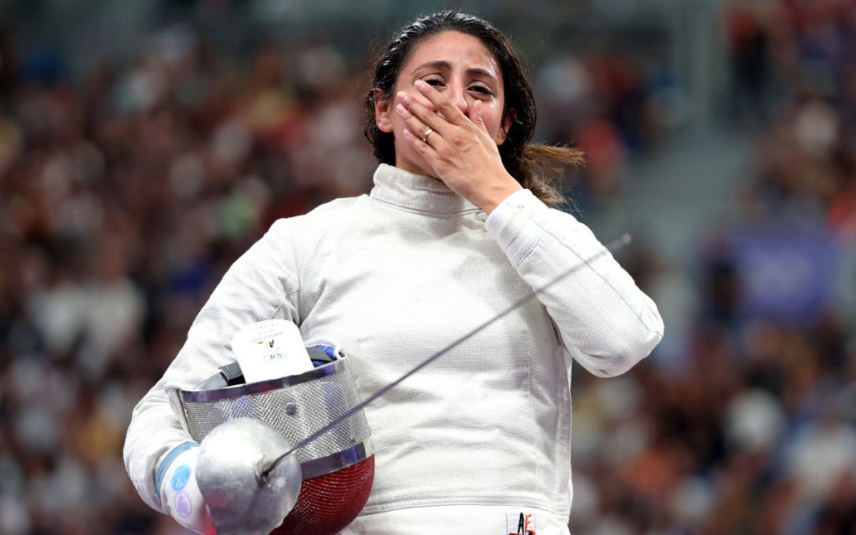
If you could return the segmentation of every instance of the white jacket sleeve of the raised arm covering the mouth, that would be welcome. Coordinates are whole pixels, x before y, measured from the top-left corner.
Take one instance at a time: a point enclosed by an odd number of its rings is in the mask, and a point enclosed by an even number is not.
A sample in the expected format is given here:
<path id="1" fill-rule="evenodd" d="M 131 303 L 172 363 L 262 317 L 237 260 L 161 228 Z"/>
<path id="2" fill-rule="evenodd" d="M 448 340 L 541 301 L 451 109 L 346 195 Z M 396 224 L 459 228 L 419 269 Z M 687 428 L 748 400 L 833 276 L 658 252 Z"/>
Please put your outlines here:
<path id="1" fill-rule="evenodd" d="M 536 291 L 569 354 L 589 372 L 627 372 L 660 342 L 657 306 L 570 214 L 521 190 L 490 213 L 485 229 Z"/>

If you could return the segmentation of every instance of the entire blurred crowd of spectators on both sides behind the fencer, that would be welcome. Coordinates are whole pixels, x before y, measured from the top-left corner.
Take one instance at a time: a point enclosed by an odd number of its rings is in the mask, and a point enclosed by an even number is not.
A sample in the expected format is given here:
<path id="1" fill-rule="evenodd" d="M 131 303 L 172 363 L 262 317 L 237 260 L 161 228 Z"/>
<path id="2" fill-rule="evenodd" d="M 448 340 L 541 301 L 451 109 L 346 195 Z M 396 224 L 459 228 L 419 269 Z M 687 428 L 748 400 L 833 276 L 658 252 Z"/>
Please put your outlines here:
<path id="1" fill-rule="evenodd" d="M 856 280 L 854 13 L 724 12 L 728 128 L 758 137 L 744 216 L 699 245 L 677 358 L 575 374 L 575 535 L 856 533 L 856 292 L 835 294 Z M 0 36 L 0 535 L 184 533 L 130 486 L 131 409 L 270 223 L 369 190 L 368 58 L 322 40 L 239 60 L 178 26 L 130 64 L 66 59 Z M 687 120 L 668 70 L 621 52 L 531 74 L 540 140 L 586 150 L 583 211 Z M 627 265 L 669 291 L 651 253 Z"/>

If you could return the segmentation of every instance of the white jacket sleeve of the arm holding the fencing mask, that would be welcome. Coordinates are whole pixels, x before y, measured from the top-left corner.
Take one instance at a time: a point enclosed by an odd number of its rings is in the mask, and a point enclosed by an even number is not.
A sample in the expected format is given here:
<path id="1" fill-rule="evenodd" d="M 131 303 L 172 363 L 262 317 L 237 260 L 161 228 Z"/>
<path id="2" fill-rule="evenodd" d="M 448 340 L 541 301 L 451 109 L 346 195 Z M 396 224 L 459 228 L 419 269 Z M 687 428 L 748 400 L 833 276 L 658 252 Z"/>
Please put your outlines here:
<path id="1" fill-rule="evenodd" d="M 300 283 L 288 240 L 289 221 L 274 223 L 229 268 L 193 321 L 175 360 L 134 407 L 123 451 L 125 467 L 143 501 L 160 512 L 158 466 L 175 446 L 192 440 L 170 407 L 167 390 L 193 389 L 235 360 L 231 339 L 244 325 L 272 318 L 298 321 Z"/>

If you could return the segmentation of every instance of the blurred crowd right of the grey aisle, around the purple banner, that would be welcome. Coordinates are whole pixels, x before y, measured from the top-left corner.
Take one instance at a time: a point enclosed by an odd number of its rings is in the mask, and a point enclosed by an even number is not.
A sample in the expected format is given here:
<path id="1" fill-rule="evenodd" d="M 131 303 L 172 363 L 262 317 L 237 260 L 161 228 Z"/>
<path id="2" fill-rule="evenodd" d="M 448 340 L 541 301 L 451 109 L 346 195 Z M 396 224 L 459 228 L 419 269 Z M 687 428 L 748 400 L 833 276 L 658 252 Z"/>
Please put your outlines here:
<path id="1" fill-rule="evenodd" d="M 722 34 L 740 217 L 699 240 L 677 358 L 575 377 L 576 533 L 856 533 L 856 3 L 733 2 Z"/>

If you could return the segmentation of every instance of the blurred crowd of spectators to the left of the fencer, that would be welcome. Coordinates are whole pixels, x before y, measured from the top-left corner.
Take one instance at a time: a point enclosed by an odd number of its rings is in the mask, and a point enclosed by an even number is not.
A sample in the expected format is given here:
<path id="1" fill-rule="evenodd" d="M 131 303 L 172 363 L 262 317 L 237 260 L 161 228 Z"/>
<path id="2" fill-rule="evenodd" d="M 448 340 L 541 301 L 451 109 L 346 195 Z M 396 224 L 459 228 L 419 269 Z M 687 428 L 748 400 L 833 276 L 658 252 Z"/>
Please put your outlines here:
<path id="1" fill-rule="evenodd" d="M 270 223 L 371 187 L 358 84 L 329 45 L 230 62 L 187 27 L 64 65 L 3 87 L 0 533 L 175 531 L 128 485 L 131 409 Z"/>

